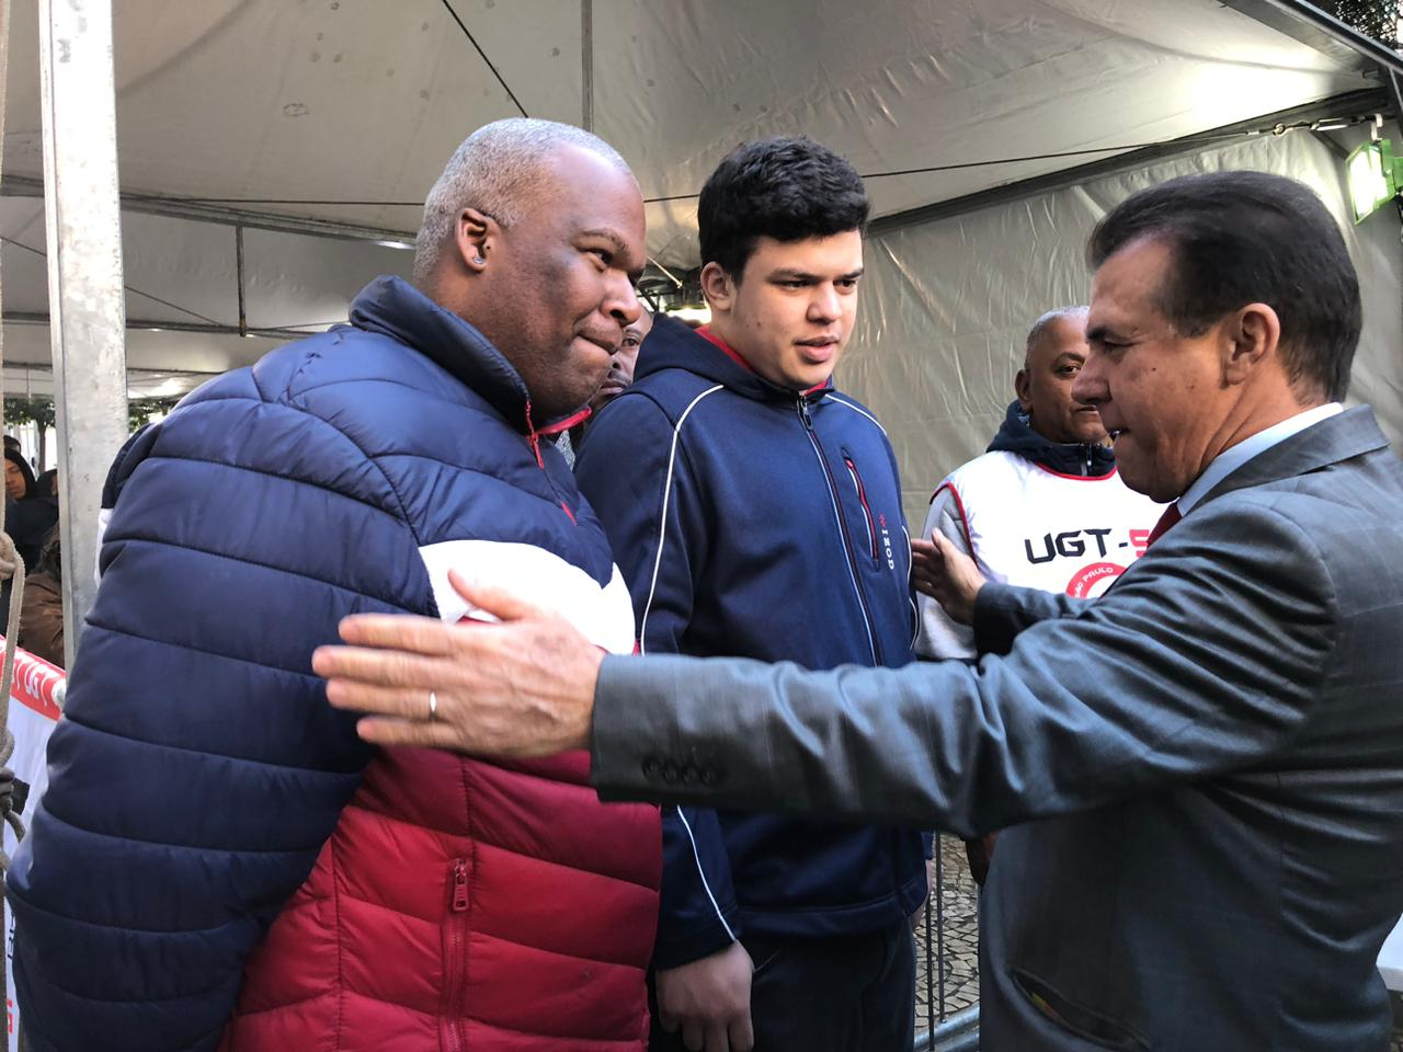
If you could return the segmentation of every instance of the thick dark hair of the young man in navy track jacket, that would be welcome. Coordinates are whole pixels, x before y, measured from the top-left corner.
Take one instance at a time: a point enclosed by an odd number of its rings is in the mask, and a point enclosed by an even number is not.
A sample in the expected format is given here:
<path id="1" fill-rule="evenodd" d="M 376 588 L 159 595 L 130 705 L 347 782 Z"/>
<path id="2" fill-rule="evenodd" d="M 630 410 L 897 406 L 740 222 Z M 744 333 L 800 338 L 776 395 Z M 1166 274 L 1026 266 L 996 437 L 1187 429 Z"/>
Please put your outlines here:
<path id="1" fill-rule="evenodd" d="M 702 264 L 716 262 L 739 282 L 760 237 L 803 241 L 861 230 L 870 210 L 861 175 L 826 146 L 805 136 L 744 143 L 702 188 Z"/>

